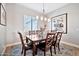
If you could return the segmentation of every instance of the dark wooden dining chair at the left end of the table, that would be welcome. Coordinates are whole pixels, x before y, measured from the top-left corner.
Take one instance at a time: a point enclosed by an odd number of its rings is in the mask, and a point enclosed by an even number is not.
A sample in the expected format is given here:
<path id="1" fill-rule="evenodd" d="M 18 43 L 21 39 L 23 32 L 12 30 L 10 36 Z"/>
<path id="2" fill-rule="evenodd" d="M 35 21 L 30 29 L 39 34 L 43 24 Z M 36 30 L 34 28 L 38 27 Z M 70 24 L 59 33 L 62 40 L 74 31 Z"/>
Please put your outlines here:
<path id="1" fill-rule="evenodd" d="M 21 54 L 24 54 L 24 56 L 26 55 L 26 50 L 29 50 L 29 49 L 32 49 L 32 43 L 28 43 L 28 39 L 26 37 L 26 44 L 24 43 L 24 40 L 23 40 L 23 36 L 20 32 L 18 32 L 19 36 L 20 36 L 20 40 L 21 40 L 21 43 L 22 43 L 22 51 L 21 51 Z"/>

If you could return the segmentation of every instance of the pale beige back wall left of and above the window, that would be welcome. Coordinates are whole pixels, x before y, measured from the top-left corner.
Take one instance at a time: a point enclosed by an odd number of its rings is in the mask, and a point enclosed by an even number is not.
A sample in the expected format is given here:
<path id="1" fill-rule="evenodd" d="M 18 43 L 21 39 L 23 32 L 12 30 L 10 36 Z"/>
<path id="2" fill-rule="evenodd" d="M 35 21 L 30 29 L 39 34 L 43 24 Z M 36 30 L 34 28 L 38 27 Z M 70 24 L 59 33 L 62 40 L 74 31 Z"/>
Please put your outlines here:
<path id="1" fill-rule="evenodd" d="M 7 4 L 7 45 L 19 41 L 17 32 L 23 31 L 23 17 L 40 16 L 40 13 L 18 4 Z"/>

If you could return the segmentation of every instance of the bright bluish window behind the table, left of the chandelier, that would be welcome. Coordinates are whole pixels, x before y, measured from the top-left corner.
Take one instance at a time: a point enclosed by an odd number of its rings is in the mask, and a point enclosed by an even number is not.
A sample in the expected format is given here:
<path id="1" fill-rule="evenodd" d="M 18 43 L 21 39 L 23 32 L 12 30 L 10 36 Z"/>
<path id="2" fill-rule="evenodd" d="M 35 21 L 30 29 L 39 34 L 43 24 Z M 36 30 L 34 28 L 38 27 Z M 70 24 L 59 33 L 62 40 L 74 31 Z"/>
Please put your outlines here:
<path id="1" fill-rule="evenodd" d="M 38 20 L 34 16 L 24 16 L 24 30 L 26 32 L 37 30 Z"/>

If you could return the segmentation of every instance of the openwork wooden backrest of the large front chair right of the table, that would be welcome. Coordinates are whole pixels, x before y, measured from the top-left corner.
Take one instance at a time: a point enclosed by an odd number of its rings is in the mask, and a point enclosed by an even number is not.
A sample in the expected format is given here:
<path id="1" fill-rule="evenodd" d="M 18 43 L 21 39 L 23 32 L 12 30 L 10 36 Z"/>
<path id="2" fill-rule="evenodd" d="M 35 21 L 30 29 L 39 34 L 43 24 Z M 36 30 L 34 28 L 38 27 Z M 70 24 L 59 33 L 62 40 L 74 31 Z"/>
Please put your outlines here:
<path id="1" fill-rule="evenodd" d="M 45 40 L 45 44 L 46 44 L 45 48 L 49 48 L 50 46 L 52 46 L 54 38 L 55 38 L 55 33 L 47 33 L 46 40 Z"/>

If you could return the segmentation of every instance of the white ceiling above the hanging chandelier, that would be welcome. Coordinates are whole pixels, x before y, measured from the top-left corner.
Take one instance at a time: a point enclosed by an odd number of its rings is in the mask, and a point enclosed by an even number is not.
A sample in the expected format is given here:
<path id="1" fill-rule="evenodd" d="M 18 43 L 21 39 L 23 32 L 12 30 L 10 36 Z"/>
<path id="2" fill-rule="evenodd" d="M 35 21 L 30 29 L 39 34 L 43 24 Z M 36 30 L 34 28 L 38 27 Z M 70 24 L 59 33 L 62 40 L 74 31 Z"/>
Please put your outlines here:
<path id="1" fill-rule="evenodd" d="M 67 4 L 68 3 L 44 3 L 45 14 L 52 12 L 58 8 L 61 8 Z M 20 3 L 20 5 L 23 5 L 27 8 L 30 8 L 30 9 L 35 10 L 40 13 L 43 12 L 43 10 L 42 10 L 43 3 Z"/>

